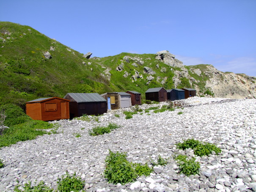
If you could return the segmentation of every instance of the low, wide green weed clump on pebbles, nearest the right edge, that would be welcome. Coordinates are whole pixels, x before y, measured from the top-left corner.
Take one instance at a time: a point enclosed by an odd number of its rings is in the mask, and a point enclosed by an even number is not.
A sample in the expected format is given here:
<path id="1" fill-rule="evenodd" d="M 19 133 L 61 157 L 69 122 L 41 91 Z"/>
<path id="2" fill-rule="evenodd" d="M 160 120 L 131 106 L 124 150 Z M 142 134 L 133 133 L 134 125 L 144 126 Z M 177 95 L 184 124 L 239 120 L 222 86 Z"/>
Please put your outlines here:
<path id="1" fill-rule="evenodd" d="M 202 143 L 198 140 L 188 139 L 184 140 L 183 143 L 177 143 L 177 148 L 179 149 L 187 149 L 191 148 L 194 149 L 194 154 L 197 156 L 208 156 L 209 154 L 212 154 L 212 151 L 214 151 L 216 154 L 221 153 L 221 149 L 216 147 L 212 143 Z"/>

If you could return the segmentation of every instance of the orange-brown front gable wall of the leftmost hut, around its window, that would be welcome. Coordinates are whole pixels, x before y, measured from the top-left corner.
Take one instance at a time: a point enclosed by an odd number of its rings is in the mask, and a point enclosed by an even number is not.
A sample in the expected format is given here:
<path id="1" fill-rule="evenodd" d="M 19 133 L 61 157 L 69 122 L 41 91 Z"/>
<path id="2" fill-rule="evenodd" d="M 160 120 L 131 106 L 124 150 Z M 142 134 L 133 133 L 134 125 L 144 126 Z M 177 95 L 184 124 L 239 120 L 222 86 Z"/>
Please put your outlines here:
<path id="1" fill-rule="evenodd" d="M 66 118 L 61 118 L 61 102 L 65 102 L 66 105 Z M 55 111 L 47 111 L 45 109 L 46 104 L 56 104 L 57 108 Z M 60 119 L 69 119 L 69 102 L 60 99 L 52 99 L 50 101 L 41 102 L 41 120 L 52 121 Z"/>

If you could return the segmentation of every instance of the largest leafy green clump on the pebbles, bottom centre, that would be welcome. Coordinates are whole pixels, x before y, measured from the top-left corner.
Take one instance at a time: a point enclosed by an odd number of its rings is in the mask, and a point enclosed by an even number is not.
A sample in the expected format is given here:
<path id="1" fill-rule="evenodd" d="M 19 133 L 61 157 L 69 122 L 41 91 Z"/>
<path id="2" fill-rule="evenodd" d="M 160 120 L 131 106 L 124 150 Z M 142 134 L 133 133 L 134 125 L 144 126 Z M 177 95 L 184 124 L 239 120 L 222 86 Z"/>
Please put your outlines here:
<path id="1" fill-rule="evenodd" d="M 109 183 L 127 184 L 134 181 L 138 176 L 149 176 L 152 169 L 148 165 L 134 164 L 127 161 L 127 153 L 109 150 L 105 159 L 106 169 L 104 176 Z"/>

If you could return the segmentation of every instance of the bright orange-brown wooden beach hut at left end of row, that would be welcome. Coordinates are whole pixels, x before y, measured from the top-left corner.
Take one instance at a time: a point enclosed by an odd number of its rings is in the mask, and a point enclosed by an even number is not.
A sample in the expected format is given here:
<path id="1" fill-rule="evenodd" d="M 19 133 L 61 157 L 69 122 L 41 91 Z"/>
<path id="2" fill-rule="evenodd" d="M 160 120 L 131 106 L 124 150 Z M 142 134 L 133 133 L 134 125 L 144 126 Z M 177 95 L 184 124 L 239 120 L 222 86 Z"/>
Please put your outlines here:
<path id="1" fill-rule="evenodd" d="M 26 113 L 33 120 L 69 119 L 69 100 L 49 97 L 28 101 L 26 102 Z"/>

